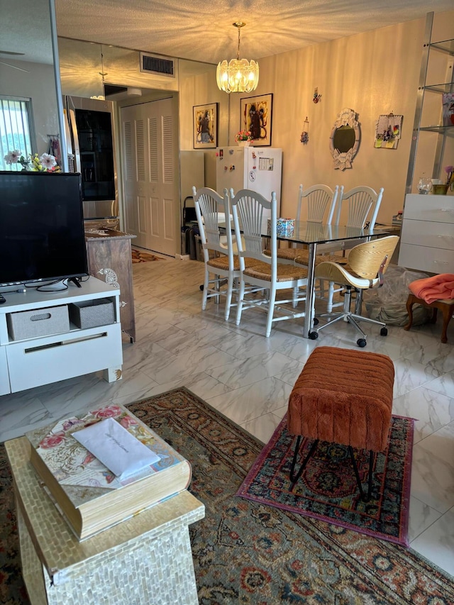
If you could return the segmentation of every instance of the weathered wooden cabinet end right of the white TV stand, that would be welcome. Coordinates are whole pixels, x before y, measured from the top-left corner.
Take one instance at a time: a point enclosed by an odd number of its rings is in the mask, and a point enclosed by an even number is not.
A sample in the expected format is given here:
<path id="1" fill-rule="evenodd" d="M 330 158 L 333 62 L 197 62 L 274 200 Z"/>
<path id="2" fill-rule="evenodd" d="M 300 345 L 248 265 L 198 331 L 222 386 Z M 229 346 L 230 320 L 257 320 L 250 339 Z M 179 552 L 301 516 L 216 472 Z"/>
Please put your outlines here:
<path id="1" fill-rule="evenodd" d="M 131 240 L 135 235 L 104 229 L 85 232 L 89 274 L 120 288 L 121 330 L 135 342 L 133 262 Z"/>

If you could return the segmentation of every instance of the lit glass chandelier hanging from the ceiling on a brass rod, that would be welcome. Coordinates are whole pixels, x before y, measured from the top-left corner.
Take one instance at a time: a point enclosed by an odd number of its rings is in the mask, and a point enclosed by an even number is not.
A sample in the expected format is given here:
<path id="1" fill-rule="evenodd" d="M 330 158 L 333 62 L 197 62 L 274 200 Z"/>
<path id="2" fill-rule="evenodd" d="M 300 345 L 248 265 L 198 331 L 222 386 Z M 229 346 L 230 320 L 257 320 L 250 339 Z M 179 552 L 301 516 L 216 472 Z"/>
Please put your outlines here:
<path id="1" fill-rule="evenodd" d="M 258 86 L 258 62 L 253 59 L 240 59 L 240 30 L 245 26 L 243 21 L 236 21 L 233 26 L 238 29 L 238 53 L 236 59 L 218 63 L 216 79 L 218 88 L 225 92 L 250 92 Z"/>

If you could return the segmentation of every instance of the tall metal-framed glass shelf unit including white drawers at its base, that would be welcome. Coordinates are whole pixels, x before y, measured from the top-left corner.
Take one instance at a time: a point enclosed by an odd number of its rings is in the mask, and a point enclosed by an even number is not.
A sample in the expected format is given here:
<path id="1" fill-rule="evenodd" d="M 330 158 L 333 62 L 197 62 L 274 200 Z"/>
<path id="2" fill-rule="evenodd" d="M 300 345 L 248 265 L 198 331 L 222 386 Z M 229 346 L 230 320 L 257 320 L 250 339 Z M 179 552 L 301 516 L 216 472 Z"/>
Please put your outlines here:
<path id="1" fill-rule="evenodd" d="M 454 163 L 454 123 L 443 121 L 443 94 L 454 92 L 454 40 L 432 40 L 428 13 L 416 96 L 399 265 L 439 274 L 454 271 L 454 196 L 419 194 L 421 177 L 441 179 Z M 441 84 L 440 84 L 441 82 Z"/>

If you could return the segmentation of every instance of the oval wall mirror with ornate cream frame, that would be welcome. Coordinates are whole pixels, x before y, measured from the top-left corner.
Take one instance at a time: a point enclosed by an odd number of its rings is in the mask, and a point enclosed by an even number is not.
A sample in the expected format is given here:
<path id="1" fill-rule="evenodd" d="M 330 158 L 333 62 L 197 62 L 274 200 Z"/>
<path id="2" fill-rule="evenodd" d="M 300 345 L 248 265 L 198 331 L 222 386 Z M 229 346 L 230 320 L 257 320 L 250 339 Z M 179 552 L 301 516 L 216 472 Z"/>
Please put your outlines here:
<path id="1" fill-rule="evenodd" d="M 334 160 L 334 168 L 345 170 L 351 168 L 360 146 L 360 126 L 356 121 L 353 109 L 343 109 L 334 123 L 329 148 Z"/>

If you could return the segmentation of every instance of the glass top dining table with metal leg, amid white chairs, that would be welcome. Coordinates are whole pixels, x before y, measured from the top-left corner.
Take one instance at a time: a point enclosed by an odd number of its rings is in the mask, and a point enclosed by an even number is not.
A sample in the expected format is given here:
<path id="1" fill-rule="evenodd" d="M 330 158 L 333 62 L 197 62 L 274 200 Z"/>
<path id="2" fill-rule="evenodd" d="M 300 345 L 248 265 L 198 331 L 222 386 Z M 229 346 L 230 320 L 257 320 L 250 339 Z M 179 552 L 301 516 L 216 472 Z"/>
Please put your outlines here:
<path id="1" fill-rule="evenodd" d="M 309 249 L 309 261 L 307 269 L 307 298 L 306 313 L 304 315 L 304 338 L 309 338 L 314 326 L 315 309 L 315 257 L 317 245 L 322 243 L 343 242 L 345 240 L 370 240 L 393 233 L 392 226 L 375 226 L 373 229 L 358 227 L 324 225 L 322 223 L 311 223 L 307 221 L 294 221 L 294 229 L 288 235 L 278 235 L 277 239 L 290 243 L 307 245 Z M 267 237 L 267 228 L 263 228 L 262 234 Z"/>

